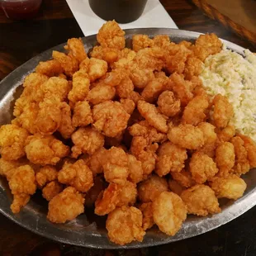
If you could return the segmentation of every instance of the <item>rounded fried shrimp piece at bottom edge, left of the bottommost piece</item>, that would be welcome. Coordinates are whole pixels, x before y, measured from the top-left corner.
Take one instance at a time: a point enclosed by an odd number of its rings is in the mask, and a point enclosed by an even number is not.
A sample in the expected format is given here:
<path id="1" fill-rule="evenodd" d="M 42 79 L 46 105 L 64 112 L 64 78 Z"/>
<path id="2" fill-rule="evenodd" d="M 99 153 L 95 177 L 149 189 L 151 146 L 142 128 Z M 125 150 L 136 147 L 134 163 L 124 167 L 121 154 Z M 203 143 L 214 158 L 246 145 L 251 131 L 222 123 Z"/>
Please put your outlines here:
<path id="1" fill-rule="evenodd" d="M 83 196 L 74 187 L 67 187 L 52 198 L 48 205 L 47 219 L 54 223 L 65 223 L 83 213 Z"/>

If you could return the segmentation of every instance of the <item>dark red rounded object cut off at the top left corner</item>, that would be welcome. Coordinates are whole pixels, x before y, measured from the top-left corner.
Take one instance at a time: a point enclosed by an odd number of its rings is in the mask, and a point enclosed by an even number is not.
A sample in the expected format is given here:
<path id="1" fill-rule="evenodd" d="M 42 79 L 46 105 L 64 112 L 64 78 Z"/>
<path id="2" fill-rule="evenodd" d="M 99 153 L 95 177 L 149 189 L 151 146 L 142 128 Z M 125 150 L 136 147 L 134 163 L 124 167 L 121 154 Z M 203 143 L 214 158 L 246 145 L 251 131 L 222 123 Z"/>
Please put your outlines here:
<path id="1" fill-rule="evenodd" d="M 5 15 L 12 20 L 30 19 L 36 16 L 42 0 L 0 0 Z"/>

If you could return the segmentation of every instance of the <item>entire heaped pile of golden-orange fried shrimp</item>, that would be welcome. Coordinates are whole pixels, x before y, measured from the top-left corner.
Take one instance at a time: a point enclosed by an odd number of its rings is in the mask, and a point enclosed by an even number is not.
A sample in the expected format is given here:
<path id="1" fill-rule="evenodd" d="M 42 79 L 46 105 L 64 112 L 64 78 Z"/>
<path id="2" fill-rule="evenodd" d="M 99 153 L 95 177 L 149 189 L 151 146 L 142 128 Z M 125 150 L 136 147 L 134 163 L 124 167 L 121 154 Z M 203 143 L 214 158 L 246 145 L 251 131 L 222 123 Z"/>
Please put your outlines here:
<path id="1" fill-rule="evenodd" d="M 26 76 L 11 124 L 0 128 L 0 174 L 18 213 L 40 190 L 47 219 L 73 220 L 94 208 L 111 242 L 142 241 L 153 225 L 167 235 L 187 214 L 221 211 L 243 196 L 256 145 L 237 134 L 234 111 L 202 87 L 202 64 L 219 53 L 214 34 L 194 44 L 135 35 L 107 21 L 98 45 L 69 39 Z"/>

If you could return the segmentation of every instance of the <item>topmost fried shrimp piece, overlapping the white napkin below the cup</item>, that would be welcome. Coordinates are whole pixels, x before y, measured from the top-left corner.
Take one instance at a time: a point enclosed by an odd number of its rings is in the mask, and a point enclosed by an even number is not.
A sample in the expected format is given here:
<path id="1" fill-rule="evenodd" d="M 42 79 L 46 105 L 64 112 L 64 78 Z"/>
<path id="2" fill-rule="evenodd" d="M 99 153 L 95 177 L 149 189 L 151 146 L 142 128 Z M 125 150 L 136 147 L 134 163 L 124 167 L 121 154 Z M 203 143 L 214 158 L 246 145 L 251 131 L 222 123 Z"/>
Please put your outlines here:
<path id="1" fill-rule="evenodd" d="M 102 47 L 122 50 L 126 45 L 125 32 L 116 21 L 107 21 L 98 31 L 97 41 Z"/>

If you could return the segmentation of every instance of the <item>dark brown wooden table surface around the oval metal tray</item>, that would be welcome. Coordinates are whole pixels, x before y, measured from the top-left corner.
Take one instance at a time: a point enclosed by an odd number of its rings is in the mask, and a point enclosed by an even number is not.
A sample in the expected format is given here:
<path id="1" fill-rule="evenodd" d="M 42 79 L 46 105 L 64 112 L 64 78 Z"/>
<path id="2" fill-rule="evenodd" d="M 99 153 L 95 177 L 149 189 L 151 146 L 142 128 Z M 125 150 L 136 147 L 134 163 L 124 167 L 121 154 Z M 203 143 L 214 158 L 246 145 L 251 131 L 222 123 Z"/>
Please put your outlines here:
<path id="1" fill-rule="evenodd" d="M 81 0 L 82 1 L 82 0 Z M 214 32 L 256 52 L 255 45 L 212 21 L 189 0 L 160 0 L 180 29 Z M 167 24 L 168 26 L 168 24 Z M 0 80 L 44 50 L 83 36 L 65 0 L 44 0 L 31 21 L 11 21 L 0 10 Z M 146 249 L 100 250 L 59 244 L 35 235 L 0 215 L 0 255 L 256 255 L 256 207 L 204 235 Z"/>

